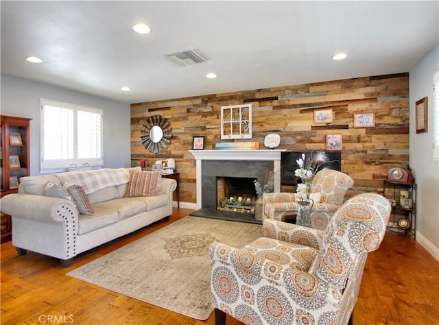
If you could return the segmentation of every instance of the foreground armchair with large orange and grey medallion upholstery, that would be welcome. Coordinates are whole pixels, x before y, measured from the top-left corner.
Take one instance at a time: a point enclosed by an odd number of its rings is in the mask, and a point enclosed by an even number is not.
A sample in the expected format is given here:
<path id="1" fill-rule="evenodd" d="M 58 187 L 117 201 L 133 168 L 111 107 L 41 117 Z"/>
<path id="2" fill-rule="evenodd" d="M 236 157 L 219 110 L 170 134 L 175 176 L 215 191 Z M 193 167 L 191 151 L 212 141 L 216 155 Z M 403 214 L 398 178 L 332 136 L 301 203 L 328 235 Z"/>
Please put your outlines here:
<path id="1" fill-rule="evenodd" d="M 265 219 L 264 237 L 244 248 L 212 243 L 215 323 L 225 324 L 227 313 L 245 324 L 347 324 L 390 210 L 382 195 L 364 193 L 324 231 Z"/>

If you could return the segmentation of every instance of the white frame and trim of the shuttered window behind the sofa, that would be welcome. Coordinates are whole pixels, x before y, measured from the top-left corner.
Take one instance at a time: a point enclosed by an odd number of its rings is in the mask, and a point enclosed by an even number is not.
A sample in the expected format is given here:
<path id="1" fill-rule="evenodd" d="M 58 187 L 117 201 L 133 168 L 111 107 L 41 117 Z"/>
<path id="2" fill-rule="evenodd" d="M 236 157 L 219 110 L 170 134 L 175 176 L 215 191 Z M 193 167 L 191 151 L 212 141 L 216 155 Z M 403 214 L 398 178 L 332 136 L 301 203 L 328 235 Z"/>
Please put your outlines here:
<path id="1" fill-rule="evenodd" d="M 44 150 L 44 136 L 45 136 L 45 128 L 44 128 L 44 106 L 56 106 L 61 108 L 68 108 L 73 110 L 74 112 L 74 123 L 73 123 L 73 138 L 74 138 L 74 154 L 73 159 L 45 159 L 43 157 Z M 99 158 L 78 158 L 78 111 L 84 112 L 93 112 L 99 114 L 101 116 L 101 157 Z M 90 164 L 93 169 L 99 169 L 104 165 L 104 110 L 99 108 L 93 108 L 88 106 L 81 106 L 71 103 L 65 103 L 62 101 L 54 101 L 51 99 L 43 99 L 40 98 L 40 173 L 56 173 L 67 171 L 69 166 L 72 164 L 78 165 L 78 167 L 84 164 Z"/>

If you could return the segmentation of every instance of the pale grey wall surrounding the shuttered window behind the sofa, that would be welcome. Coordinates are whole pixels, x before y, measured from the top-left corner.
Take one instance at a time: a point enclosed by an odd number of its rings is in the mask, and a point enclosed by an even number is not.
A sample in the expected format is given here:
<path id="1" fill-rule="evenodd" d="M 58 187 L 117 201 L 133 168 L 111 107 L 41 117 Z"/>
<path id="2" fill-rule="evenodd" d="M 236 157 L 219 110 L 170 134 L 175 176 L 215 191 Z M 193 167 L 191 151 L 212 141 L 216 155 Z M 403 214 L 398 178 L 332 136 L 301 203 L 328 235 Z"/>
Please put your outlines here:
<path id="1" fill-rule="evenodd" d="M 1 115 L 28 117 L 32 176 L 40 173 L 40 98 L 104 110 L 104 167 L 130 167 L 130 104 L 41 82 L 1 75 Z"/>

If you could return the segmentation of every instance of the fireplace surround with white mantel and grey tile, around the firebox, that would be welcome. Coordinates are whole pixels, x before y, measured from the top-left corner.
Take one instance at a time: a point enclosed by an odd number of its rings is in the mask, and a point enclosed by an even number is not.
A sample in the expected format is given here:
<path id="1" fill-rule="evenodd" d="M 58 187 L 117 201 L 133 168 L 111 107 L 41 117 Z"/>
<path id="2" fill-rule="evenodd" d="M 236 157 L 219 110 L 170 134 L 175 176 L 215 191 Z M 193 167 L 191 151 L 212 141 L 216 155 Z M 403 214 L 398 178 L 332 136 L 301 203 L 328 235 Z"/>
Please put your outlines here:
<path id="1" fill-rule="evenodd" d="M 217 177 L 258 178 L 274 170 L 274 191 L 281 191 L 281 153 L 285 150 L 190 150 L 196 160 L 197 209 L 217 207 Z"/>

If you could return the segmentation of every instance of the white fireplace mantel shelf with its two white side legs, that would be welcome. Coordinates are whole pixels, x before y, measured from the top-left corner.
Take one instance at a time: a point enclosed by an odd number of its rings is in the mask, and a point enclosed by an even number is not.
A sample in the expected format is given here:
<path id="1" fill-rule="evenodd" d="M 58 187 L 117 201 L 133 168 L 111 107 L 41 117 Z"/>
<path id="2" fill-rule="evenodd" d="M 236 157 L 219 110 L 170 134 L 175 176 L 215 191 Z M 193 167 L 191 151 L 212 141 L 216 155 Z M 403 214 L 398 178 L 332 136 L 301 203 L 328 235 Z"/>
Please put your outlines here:
<path id="1" fill-rule="evenodd" d="M 281 154 L 285 149 L 189 150 L 196 160 L 197 209 L 202 199 L 202 160 L 271 160 L 274 163 L 274 192 L 281 191 Z"/>

